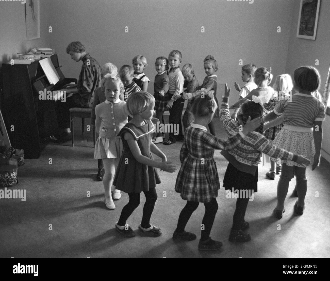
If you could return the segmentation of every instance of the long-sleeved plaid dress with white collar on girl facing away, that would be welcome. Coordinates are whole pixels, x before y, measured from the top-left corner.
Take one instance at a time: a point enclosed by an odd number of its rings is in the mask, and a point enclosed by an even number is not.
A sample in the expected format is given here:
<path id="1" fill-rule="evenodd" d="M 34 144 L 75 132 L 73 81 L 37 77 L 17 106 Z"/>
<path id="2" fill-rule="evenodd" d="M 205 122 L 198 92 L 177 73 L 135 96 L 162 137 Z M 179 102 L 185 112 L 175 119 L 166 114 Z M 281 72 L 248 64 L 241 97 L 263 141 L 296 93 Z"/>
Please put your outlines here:
<path id="1" fill-rule="evenodd" d="M 216 138 L 194 123 L 184 132 L 180 151 L 181 168 L 175 183 L 175 191 L 183 200 L 210 202 L 220 189 L 218 171 L 213 158 L 215 149 L 231 150 L 243 138 L 239 133 L 224 141 Z M 198 125 L 197 125 L 198 126 Z"/>

